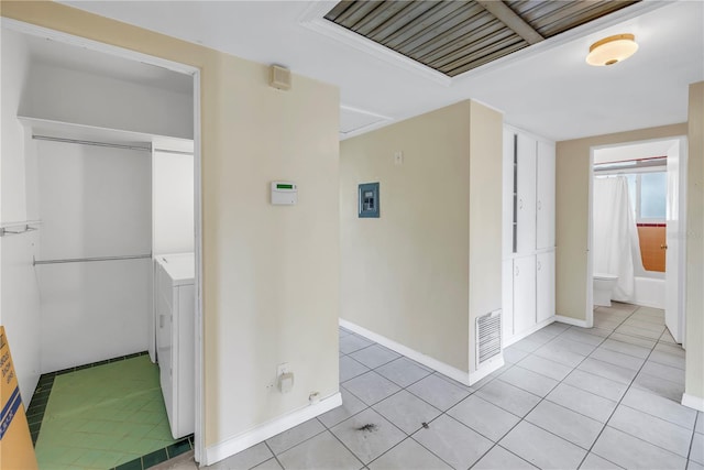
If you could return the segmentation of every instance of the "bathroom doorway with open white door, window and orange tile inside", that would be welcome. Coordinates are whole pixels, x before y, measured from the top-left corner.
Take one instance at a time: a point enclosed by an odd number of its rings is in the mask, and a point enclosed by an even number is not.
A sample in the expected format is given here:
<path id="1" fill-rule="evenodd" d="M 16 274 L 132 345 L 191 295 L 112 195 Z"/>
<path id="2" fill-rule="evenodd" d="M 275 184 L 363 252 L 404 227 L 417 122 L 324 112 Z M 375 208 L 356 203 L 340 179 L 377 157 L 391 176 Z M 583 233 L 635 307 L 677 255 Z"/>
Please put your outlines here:
<path id="1" fill-rule="evenodd" d="M 625 277 L 615 284 L 612 298 L 663 309 L 670 334 L 675 342 L 684 347 L 686 138 L 593 147 L 590 167 L 588 324 L 593 324 L 595 306 L 592 276 L 608 270 L 604 267 L 607 265 L 604 263 L 604 241 L 600 238 L 604 233 L 598 228 L 605 227 L 605 222 L 595 220 L 595 217 L 603 217 L 603 212 L 612 208 L 600 210 L 595 204 L 601 203 L 596 203 L 595 197 L 598 198 L 597 193 L 604 190 L 597 186 L 603 187 L 604 179 L 609 178 L 610 186 L 620 181 L 627 188 L 625 199 L 628 200 L 629 215 L 632 217 L 630 233 L 634 240 L 631 253 L 624 253 L 629 249 L 623 247 L 630 245 L 622 240 L 622 251 L 616 254 L 620 254 L 622 259 L 617 261 L 626 264 L 625 267 L 619 269 L 619 262 L 614 263 L 613 255 L 606 255 L 610 256 L 610 270 L 620 270 L 620 273 L 607 274 Z M 632 263 L 631 273 L 628 272 L 628 263 Z"/>

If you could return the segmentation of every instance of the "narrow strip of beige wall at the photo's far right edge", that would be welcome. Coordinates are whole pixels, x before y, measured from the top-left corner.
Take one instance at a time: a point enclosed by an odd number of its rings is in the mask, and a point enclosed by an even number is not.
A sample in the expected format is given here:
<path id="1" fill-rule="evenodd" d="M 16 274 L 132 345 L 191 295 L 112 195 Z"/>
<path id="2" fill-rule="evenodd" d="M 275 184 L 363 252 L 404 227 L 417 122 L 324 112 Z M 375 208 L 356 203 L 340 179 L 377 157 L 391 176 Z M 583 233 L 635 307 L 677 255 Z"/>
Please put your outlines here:
<path id="1" fill-rule="evenodd" d="M 704 81 L 690 85 L 686 181 L 688 395 L 704 407 Z"/>

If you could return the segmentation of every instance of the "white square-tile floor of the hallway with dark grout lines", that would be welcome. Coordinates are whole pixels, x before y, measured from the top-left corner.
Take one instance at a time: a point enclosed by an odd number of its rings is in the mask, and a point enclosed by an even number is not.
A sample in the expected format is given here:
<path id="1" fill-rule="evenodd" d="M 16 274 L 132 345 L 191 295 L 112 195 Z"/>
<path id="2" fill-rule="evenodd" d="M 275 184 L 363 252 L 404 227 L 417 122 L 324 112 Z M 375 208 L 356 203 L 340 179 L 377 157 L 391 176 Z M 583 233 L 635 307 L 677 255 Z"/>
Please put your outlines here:
<path id="1" fill-rule="evenodd" d="M 472 387 L 341 328 L 343 405 L 208 468 L 704 469 L 662 310 L 615 304 L 594 325 L 541 329 Z"/>

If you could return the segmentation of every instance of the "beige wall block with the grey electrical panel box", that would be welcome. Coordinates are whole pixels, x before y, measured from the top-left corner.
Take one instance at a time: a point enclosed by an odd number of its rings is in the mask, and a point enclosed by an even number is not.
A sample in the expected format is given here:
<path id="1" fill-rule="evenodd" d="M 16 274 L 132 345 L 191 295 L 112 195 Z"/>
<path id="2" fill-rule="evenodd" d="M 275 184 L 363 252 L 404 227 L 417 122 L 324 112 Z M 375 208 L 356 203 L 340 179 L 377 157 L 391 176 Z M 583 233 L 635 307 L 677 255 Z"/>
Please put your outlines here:
<path id="1" fill-rule="evenodd" d="M 470 101 L 341 143 L 343 319 L 470 371 L 470 320 L 501 307 L 501 145 Z M 381 217 L 360 219 L 372 182 Z"/>

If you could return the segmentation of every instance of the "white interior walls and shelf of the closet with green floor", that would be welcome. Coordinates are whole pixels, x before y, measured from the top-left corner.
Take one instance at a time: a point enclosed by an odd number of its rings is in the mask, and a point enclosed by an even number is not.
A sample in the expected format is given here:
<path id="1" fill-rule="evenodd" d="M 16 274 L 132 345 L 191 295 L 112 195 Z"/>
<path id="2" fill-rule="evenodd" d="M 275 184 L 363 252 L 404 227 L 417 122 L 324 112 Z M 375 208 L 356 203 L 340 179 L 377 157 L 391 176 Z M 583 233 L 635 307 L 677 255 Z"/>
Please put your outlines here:
<path id="1" fill-rule="evenodd" d="M 157 258 L 188 253 L 193 284 L 193 87 L 2 29 L 1 311 L 25 406 L 42 374 L 156 360 Z"/>

